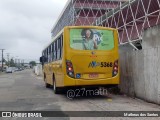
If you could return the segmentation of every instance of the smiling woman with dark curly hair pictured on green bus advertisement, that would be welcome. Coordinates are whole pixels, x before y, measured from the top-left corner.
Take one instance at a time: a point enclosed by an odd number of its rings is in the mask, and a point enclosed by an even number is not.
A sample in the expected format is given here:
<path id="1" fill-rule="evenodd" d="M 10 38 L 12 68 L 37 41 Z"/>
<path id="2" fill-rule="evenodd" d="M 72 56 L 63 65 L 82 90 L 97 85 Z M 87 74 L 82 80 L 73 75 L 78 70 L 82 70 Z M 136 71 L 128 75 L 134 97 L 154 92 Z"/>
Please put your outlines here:
<path id="1" fill-rule="evenodd" d="M 83 29 L 81 32 L 83 38 L 83 49 L 84 50 L 95 50 L 98 49 L 96 40 L 93 37 L 93 31 L 91 29 Z"/>

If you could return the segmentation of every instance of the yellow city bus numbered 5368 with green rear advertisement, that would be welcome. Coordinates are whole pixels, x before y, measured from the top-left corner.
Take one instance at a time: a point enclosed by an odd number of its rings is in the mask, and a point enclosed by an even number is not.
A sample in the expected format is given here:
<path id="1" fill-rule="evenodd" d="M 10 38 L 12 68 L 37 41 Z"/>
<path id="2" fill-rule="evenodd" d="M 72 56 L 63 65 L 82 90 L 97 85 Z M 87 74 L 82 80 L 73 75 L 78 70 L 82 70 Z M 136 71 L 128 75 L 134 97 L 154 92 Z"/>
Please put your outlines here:
<path id="1" fill-rule="evenodd" d="M 67 26 L 43 50 L 40 62 L 46 87 L 56 94 L 66 87 L 119 84 L 117 30 Z"/>

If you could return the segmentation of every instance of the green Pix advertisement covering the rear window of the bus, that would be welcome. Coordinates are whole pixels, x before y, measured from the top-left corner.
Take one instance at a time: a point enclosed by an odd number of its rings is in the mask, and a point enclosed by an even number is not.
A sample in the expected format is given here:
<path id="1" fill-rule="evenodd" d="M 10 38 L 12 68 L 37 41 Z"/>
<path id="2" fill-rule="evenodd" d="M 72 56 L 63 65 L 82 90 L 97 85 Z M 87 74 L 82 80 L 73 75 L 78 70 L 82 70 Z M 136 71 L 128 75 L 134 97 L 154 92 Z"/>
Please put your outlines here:
<path id="1" fill-rule="evenodd" d="M 70 47 L 76 50 L 112 50 L 112 30 L 70 29 Z"/>

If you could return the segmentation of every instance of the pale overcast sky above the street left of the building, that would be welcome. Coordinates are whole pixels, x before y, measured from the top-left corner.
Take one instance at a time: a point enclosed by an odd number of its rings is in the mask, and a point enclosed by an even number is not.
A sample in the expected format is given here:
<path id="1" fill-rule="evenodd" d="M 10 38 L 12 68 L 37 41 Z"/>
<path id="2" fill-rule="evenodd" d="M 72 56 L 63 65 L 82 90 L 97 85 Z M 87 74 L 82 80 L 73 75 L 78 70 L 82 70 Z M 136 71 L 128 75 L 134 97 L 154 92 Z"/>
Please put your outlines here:
<path id="1" fill-rule="evenodd" d="M 10 53 L 14 58 L 38 60 L 66 2 L 0 0 L 0 49 L 5 49 L 4 56 Z"/>

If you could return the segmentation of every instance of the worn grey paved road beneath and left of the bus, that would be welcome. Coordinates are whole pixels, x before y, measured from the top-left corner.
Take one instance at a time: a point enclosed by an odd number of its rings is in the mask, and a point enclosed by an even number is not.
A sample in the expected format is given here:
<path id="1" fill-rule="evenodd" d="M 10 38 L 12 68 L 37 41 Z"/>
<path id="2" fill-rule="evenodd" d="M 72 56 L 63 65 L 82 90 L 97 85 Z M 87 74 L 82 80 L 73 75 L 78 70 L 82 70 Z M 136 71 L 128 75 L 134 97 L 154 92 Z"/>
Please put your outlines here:
<path id="1" fill-rule="evenodd" d="M 55 95 L 47 89 L 41 77 L 32 70 L 0 75 L 0 111 L 160 111 L 160 106 L 132 99 L 124 95 L 87 96 L 68 99 L 67 95 Z M 0 118 L 0 120 L 22 118 Z M 32 118 L 33 119 L 33 118 Z M 128 120 L 158 118 L 35 118 L 33 120 Z M 23 120 L 28 120 L 23 118 Z"/>

